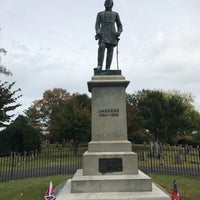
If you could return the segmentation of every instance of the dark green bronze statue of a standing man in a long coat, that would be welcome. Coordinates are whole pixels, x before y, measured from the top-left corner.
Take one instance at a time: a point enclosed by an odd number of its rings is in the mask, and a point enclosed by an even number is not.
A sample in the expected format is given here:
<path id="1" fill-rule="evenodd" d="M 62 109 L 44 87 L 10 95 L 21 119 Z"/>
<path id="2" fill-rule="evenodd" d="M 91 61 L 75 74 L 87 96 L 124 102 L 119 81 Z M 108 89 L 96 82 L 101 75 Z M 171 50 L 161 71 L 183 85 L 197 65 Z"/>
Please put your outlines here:
<path id="1" fill-rule="evenodd" d="M 95 39 L 99 40 L 98 70 L 102 70 L 105 49 L 107 49 L 106 70 L 110 70 L 113 58 L 113 48 L 118 45 L 119 36 L 122 32 L 122 24 L 119 14 L 112 11 L 113 1 L 106 0 L 104 6 L 105 11 L 97 14 L 95 24 Z M 117 25 L 117 30 L 115 24 Z"/>

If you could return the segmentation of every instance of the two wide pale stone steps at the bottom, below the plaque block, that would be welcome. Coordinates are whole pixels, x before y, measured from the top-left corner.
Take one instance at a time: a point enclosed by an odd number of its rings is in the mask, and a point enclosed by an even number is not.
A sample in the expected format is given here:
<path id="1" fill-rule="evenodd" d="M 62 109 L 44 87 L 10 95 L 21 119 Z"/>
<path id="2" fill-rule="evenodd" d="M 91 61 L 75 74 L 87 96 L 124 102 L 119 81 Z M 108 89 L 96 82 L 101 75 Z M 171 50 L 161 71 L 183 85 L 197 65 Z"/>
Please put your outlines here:
<path id="1" fill-rule="evenodd" d="M 138 175 L 83 176 L 78 170 L 59 190 L 56 200 L 170 200 L 140 172 Z"/>

